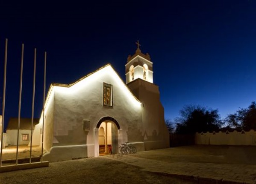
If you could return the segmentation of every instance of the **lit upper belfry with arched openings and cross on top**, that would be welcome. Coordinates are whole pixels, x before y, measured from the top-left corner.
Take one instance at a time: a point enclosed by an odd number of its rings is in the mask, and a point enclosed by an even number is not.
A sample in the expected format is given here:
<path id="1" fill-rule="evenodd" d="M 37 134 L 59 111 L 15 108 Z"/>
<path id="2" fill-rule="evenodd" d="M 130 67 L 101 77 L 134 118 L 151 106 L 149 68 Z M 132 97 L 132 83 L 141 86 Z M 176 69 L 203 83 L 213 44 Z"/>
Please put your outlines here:
<path id="1" fill-rule="evenodd" d="M 134 55 L 128 56 L 125 65 L 126 84 L 138 78 L 153 83 L 153 63 L 150 61 L 150 55 L 141 52 L 139 41 L 135 43 L 137 50 Z"/>

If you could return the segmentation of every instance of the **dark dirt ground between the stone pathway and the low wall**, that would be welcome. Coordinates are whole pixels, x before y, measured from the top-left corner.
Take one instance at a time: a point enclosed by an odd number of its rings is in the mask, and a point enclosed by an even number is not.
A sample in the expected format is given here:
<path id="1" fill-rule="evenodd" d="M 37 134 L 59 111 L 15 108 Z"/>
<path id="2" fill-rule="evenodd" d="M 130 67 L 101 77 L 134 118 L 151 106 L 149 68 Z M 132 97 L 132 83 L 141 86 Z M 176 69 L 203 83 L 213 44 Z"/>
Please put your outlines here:
<path id="1" fill-rule="evenodd" d="M 215 163 L 215 164 L 246 164 L 256 165 L 256 146 L 215 146 L 194 145 L 172 147 L 154 154 L 138 152 L 132 156 L 165 162 Z"/>

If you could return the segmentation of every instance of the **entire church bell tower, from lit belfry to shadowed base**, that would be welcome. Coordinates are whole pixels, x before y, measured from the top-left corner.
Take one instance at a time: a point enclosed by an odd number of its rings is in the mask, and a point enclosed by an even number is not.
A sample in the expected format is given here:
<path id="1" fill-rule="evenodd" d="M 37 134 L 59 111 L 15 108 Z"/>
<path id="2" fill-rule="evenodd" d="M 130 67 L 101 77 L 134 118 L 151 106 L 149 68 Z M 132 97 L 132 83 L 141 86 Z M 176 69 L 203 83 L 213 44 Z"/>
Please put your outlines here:
<path id="1" fill-rule="evenodd" d="M 125 65 L 126 84 L 141 101 L 141 136 L 145 150 L 169 147 L 169 132 L 165 125 L 165 111 L 160 101 L 159 87 L 153 83 L 153 63 L 143 54 L 137 41 L 134 55 Z"/>

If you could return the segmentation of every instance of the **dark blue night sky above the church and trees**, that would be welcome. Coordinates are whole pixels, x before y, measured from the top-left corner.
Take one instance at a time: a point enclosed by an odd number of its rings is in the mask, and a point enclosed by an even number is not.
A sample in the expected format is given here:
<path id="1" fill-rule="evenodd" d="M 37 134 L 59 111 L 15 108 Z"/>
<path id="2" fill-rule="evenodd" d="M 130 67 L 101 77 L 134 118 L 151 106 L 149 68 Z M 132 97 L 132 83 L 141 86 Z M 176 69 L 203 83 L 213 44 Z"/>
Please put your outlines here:
<path id="1" fill-rule="evenodd" d="M 25 45 L 22 117 L 31 117 L 37 48 L 35 117 L 43 99 L 43 60 L 50 83 L 72 83 L 111 63 L 125 78 L 135 41 L 153 61 L 165 118 L 187 104 L 222 118 L 256 101 L 256 1 L 171 0 L 54 3 L 0 2 L 0 96 L 4 41 L 9 39 L 6 119 L 18 117 L 21 43 Z M 2 99 L 1 99 L 2 103 Z"/>

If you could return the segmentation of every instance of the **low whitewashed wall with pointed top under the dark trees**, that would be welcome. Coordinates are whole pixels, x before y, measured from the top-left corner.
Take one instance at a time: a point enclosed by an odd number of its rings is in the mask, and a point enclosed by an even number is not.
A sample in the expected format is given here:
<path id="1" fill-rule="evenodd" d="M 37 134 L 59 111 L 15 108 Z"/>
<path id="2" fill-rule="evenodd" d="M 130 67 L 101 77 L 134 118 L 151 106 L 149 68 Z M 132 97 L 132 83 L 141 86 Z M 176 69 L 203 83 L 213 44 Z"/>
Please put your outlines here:
<path id="1" fill-rule="evenodd" d="M 256 146 L 256 131 L 201 132 L 195 134 L 195 144 Z"/>

